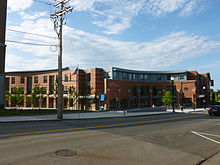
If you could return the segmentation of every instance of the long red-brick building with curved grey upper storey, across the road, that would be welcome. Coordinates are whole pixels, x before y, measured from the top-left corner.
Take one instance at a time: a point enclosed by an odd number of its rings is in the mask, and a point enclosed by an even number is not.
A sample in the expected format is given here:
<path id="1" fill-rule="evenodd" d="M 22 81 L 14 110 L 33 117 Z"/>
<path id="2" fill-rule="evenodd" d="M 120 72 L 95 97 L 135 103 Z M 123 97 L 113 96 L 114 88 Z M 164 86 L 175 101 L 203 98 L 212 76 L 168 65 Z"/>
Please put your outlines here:
<path id="1" fill-rule="evenodd" d="M 20 88 L 24 107 L 30 107 L 30 94 L 36 85 L 43 87 L 42 107 L 56 108 L 57 70 L 21 71 L 6 73 L 6 89 L 14 93 Z M 171 81 L 172 79 L 172 81 Z M 209 104 L 210 74 L 196 71 L 138 71 L 122 68 L 63 69 L 64 107 L 68 104 L 68 88 L 74 86 L 79 97 L 73 109 L 85 108 L 83 84 L 91 89 L 86 108 L 119 110 L 135 107 L 162 106 L 161 98 L 167 90 L 174 94 L 175 105 L 202 107 Z M 7 106 L 11 103 L 8 102 Z"/>

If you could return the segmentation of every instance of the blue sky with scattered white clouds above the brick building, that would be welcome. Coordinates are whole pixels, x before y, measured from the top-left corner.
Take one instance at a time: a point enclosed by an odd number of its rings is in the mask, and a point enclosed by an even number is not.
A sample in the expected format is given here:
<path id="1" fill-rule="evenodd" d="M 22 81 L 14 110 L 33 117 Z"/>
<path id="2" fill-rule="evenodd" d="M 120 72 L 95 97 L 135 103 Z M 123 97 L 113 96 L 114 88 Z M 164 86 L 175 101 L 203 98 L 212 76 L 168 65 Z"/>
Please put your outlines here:
<path id="1" fill-rule="evenodd" d="M 55 1 L 8 0 L 6 71 L 57 68 Z M 210 72 L 220 89 L 219 0 L 70 0 L 67 6 L 73 10 L 65 14 L 63 67 L 196 70 Z"/>

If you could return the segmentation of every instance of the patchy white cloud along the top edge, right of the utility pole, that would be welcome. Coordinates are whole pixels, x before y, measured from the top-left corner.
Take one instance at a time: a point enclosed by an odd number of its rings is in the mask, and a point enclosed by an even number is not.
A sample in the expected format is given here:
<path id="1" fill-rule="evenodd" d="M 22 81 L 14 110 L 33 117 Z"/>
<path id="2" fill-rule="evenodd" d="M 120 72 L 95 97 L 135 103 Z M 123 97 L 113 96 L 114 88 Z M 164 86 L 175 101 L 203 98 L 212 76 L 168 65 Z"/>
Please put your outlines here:
<path id="1" fill-rule="evenodd" d="M 89 11 L 95 15 L 93 24 L 104 33 L 118 34 L 131 26 L 132 19 L 142 14 L 162 16 L 178 12 L 188 16 L 204 6 L 204 0 L 73 0 L 75 11 Z M 97 21 L 98 20 L 98 21 Z"/>

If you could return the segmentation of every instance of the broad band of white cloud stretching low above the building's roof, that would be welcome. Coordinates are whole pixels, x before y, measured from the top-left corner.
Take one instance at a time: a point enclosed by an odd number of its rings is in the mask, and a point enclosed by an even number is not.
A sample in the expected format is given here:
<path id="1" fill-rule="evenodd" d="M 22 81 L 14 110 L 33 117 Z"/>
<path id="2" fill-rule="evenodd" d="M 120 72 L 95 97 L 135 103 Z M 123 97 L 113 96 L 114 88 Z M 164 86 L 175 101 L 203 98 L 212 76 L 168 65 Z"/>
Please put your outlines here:
<path id="1" fill-rule="evenodd" d="M 24 21 L 18 27 L 9 28 L 56 37 L 49 19 Z M 56 43 L 56 40 L 51 38 L 14 34 L 8 33 L 7 39 Z M 220 42 L 210 41 L 206 37 L 184 31 L 173 32 L 151 42 L 122 42 L 65 26 L 63 66 L 75 66 L 79 63 L 83 68 L 118 66 L 158 70 L 205 55 L 215 48 L 220 48 Z M 57 54 L 50 51 L 49 47 L 8 43 L 7 49 L 10 50 L 9 57 L 10 54 L 17 53 L 20 59 L 20 62 L 16 62 L 17 66 L 14 68 L 16 70 L 18 66 L 22 68 L 20 70 L 50 69 L 57 66 Z M 13 62 L 13 60 L 7 61 L 7 70 L 13 69 Z"/>

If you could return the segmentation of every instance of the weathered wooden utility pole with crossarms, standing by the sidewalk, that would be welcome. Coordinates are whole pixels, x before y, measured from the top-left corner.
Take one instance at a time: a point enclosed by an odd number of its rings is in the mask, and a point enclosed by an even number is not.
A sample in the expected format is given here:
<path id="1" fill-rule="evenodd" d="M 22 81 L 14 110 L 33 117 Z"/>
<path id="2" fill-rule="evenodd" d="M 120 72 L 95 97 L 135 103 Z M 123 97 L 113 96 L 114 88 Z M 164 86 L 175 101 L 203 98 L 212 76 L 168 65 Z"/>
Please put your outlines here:
<path id="1" fill-rule="evenodd" d="M 50 17 L 54 21 L 54 30 L 58 36 L 58 100 L 57 100 L 57 119 L 63 119 L 63 83 L 62 83 L 62 35 L 63 35 L 63 21 L 65 13 L 72 10 L 70 6 L 65 7 L 65 4 L 69 0 L 56 0 L 57 4 L 54 5 L 56 8 L 60 8 L 59 11 L 51 14 Z"/>

